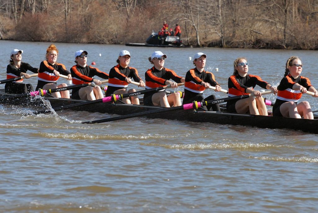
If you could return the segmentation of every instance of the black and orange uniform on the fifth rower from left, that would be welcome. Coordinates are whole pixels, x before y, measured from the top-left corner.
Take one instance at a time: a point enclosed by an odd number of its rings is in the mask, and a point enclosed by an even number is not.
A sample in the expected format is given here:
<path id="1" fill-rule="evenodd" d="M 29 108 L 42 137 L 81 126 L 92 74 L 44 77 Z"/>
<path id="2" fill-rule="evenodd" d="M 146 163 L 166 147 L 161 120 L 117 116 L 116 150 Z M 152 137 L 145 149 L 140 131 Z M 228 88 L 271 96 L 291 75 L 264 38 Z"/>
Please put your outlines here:
<path id="1" fill-rule="evenodd" d="M 169 70 L 167 68 L 162 68 L 162 70 L 157 70 L 155 67 L 147 70 L 145 73 L 145 81 L 146 81 L 146 89 L 156 88 L 156 87 L 163 87 L 166 86 L 166 81 L 172 79 L 176 83 L 181 83 L 181 78 L 178 76 L 175 71 Z M 163 92 L 165 90 L 162 90 Z M 143 104 L 144 105 L 154 105 L 152 103 L 152 95 L 156 92 L 147 92 L 143 95 Z"/>

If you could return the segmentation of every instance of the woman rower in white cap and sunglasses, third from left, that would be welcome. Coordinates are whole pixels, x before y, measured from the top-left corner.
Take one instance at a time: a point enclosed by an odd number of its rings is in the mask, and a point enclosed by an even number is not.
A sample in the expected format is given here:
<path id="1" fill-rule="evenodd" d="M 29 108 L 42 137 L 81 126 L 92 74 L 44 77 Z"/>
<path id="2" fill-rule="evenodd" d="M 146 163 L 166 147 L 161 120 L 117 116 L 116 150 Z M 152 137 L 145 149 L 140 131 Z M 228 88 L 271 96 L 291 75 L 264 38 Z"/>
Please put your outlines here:
<path id="1" fill-rule="evenodd" d="M 71 68 L 73 77 L 73 84 L 83 84 L 94 82 L 96 85 L 100 85 L 101 81 L 93 78 L 98 76 L 104 79 L 108 79 L 108 74 L 101 72 L 99 69 L 87 65 L 87 51 L 78 50 L 75 52 L 75 63 Z M 99 86 L 95 87 L 83 87 L 80 89 L 73 89 L 72 98 L 83 99 L 83 100 L 96 100 L 103 98 L 104 94 Z"/>

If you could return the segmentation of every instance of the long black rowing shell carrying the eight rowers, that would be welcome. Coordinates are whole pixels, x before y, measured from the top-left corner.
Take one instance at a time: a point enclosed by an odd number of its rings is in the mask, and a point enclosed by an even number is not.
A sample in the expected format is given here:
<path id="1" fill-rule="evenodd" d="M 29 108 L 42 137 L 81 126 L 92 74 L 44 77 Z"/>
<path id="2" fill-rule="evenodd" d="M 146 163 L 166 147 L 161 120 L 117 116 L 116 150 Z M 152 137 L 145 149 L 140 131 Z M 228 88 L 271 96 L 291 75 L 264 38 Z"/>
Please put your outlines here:
<path id="1" fill-rule="evenodd" d="M 7 94 L 0 91 L 0 97 L 11 96 L 13 94 Z M 86 100 L 78 99 L 64 99 L 45 97 L 45 100 L 51 103 L 53 108 L 65 106 L 73 103 L 86 102 Z M 9 104 L 24 104 L 28 106 L 36 106 L 42 109 L 45 108 L 43 102 L 39 98 L 28 97 L 22 100 L 10 99 L 9 101 L 4 100 L 2 103 Z M 145 112 L 149 110 L 157 110 L 161 107 L 155 106 L 144 106 L 124 103 L 94 103 L 85 105 L 82 107 L 76 107 L 72 110 L 77 111 L 88 111 L 88 112 L 100 112 L 117 115 L 128 115 L 133 113 Z M 318 120 L 315 117 L 314 120 L 309 119 L 296 119 L 288 117 L 278 116 L 260 116 L 260 115 L 249 115 L 249 114 L 238 114 L 228 112 L 215 112 L 215 111 L 197 111 L 197 110 L 178 110 L 174 112 L 160 113 L 147 115 L 148 118 L 162 118 L 169 120 L 179 121 L 190 121 L 190 122 L 208 122 L 218 124 L 231 124 L 231 125 L 243 125 L 252 126 L 258 128 L 268 129 L 290 129 L 290 130 L 301 130 L 304 132 L 318 134 Z"/>

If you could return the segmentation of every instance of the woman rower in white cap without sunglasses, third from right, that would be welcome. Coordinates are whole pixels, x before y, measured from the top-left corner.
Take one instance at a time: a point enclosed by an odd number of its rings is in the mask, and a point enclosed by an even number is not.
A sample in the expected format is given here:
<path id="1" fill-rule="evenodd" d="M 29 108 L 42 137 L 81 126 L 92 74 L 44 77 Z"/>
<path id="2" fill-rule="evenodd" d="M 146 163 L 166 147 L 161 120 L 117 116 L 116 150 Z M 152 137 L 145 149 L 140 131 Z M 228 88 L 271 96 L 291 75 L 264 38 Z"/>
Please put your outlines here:
<path id="1" fill-rule="evenodd" d="M 218 92 L 222 89 L 218 82 L 215 81 L 214 75 L 211 72 L 204 70 L 206 55 L 202 52 L 198 52 L 193 58 L 193 64 L 196 67 L 185 74 L 184 97 L 182 104 L 192 103 L 193 101 L 204 102 L 214 100 L 216 99 L 214 95 L 203 98 L 203 91 L 206 88 L 209 88 L 209 86 L 214 86 Z M 208 108 L 203 106 L 202 108 L 204 108 L 204 110 L 212 109 L 213 111 L 220 111 L 220 106 L 218 104 L 213 104 Z"/>

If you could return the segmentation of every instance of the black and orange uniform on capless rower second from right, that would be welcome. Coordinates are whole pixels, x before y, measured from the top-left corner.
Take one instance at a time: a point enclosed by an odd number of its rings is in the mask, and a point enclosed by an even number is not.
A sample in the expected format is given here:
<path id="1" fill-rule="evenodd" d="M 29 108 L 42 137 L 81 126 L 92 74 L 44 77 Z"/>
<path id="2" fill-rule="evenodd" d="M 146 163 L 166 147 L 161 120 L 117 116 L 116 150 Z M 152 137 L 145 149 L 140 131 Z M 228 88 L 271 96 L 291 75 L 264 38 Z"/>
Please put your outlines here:
<path id="1" fill-rule="evenodd" d="M 249 74 L 247 74 L 245 77 L 241 77 L 240 75 L 230 76 L 228 81 L 229 97 L 249 95 L 249 93 L 246 93 L 247 88 L 252 87 L 254 89 L 256 85 L 259 85 L 260 87 L 266 89 L 267 84 L 268 83 L 263 81 L 259 76 Z M 235 103 L 237 101 L 238 100 L 228 101 L 226 103 L 226 110 L 228 112 L 237 112 L 235 110 Z"/>

